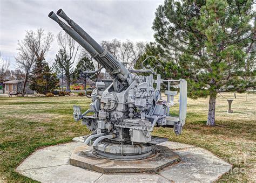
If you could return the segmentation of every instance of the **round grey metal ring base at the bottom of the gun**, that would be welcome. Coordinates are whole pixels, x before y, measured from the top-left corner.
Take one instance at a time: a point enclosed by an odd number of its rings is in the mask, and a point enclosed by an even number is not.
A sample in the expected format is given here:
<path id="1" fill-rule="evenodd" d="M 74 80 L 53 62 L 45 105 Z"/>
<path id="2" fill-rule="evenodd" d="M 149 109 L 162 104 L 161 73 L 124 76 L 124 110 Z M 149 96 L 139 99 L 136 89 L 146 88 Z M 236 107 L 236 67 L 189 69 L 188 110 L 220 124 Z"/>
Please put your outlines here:
<path id="1" fill-rule="evenodd" d="M 93 154 L 112 160 L 139 160 L 154 155 L 155 144 L 114 144 L 101 142 L 93 147 Z"/>

